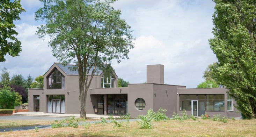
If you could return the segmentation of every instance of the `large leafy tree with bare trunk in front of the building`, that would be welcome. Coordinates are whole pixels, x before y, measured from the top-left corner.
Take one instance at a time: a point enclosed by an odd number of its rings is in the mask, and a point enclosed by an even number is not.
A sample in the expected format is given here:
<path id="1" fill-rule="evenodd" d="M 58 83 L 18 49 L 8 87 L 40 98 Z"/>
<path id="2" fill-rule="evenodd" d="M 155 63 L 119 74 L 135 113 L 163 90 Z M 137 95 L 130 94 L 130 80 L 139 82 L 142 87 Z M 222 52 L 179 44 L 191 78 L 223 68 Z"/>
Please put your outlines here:
<path id="1" fill-rule="evenodd" d="M 63 65 L 75 63 L 78 70 L 80 114 L 86 118 L 86 96 L 95 70 L 104 70 L 112 59 L 119 63 L 133 48 L 130 26 L 120 18 L 116 0 L 41 0 L 36 20 L 40 38 L 51 37 L 49 47 Z M 97 68 L 97 69 L 96 69 Z M 89 76 L 89 72 L 92 73 Z"/>

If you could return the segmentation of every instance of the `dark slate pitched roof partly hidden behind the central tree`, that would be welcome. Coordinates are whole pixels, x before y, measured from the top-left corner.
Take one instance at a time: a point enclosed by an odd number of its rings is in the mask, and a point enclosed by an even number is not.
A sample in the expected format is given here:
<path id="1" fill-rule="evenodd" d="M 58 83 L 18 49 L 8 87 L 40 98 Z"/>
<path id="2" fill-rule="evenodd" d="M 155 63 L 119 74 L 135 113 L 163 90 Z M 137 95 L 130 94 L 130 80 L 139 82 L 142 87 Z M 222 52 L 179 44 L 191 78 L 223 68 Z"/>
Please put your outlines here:
<path id="1" fill-rule="evenodd" d="M 76 70 L 76 71 L 71 71 L 70 69 L 69 69 L 69 67 L 73 67 L 74 65 L 71 65 L 71 64 L 68 64 L 68 65 L 66 65 L 66 66 L 63 66 L 61 63 L 56 63 L 59 67 L 60 67 L 60 69 L 61 70 L 63 70 L 67 75 L 78 75 L 78 70 Z M 92 74 L 92 71 L 93 71 L 93 68 L 92 69 L 90 69 L 90 71 L 89 71 L 89 75 L 91 75 Z M 99 69 L 95 69 L 95 71 L 94 71 L 94 75 L 100 75 L 102 73 L 102 71 L 101 70 L 99 70 Z"/>

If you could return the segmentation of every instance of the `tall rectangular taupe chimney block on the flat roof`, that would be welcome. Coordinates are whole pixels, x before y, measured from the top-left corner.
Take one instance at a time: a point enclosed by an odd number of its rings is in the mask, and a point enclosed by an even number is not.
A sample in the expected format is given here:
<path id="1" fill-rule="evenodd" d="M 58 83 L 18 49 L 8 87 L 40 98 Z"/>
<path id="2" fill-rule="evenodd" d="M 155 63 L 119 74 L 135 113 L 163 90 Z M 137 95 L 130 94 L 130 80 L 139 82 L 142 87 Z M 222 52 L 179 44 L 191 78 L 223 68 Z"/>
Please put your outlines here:
<path id="1" fill-rule="evenodd" d="M 164 65 L 147 65 L 147 83 L 163 84 Z"/>

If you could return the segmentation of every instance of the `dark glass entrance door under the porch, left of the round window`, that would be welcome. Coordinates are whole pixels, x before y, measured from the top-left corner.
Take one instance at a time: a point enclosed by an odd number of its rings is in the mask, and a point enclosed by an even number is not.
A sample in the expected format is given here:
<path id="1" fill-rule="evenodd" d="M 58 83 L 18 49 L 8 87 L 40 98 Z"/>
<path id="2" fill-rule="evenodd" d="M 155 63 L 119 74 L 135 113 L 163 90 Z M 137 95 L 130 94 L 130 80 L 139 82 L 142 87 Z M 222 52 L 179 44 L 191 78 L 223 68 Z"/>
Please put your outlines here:
<path id="1" fill-rule="evenodd" d="M 115 99 L 115 113 L 114 115 L 126 115 L 126 100 Z"/>

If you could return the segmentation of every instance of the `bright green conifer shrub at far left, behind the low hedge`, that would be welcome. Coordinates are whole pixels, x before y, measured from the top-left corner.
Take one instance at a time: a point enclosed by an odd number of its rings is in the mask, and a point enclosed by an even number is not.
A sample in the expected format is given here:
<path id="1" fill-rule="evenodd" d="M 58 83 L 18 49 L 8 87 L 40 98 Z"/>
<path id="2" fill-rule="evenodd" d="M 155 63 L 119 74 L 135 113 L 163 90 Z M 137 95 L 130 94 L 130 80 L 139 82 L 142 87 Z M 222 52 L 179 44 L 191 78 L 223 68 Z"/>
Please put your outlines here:
<path id="1" fill-rule="evenodd" d="M 13 109 L 16 100 L 16 93 L 10 87 L 4 86 L 0 89 L 0 108 Z"/>

